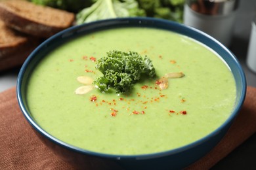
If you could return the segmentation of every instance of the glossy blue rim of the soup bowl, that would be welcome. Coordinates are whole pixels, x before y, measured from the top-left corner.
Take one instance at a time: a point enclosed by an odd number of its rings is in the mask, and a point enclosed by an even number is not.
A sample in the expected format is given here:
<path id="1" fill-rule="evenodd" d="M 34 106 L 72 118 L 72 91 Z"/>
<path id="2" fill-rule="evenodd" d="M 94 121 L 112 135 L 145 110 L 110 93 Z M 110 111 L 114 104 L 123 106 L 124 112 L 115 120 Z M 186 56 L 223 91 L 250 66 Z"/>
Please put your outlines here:
<path id="1" fill-rule="evenodd" d="M 221 126 L 217 127 L 217 129 L 215 129 L 208 135 L 202 137 L 201 139 L 198 139 L 197 141 L 194 141 L 193 143 L 186 144 L 179 148 L 174 148 L 174 149 L 166 150 L 163 152 L 154 152 L 154 153 L 150 153 L 150 154 L 122 155 L 122 154 L 105 154 L 105 153 L 100 153 L 100 152 L 93 152 L 91 150 L 86 150 L 86 149 L 74 146 L 72 144 L 65 143 L 63 141 L 60 141 L 59 139 L 56 139 L 49 133 L 47 133 L 47 131 L 45 131 L 42 127 L 40 127 L 35 122 L 35 120 L 33 120 L 29 111 L 26 109 L 26 106 L 24 105 L 24 101 L 22 99 L 22 81 L 24 78 L 24 73 L 26 72 L 26 69 L 30 65 L 30 62 L 33 60 L 33 56 L 35 56 L 35 54 L 37 54 L 37 52 L 39 52 L 39 50 L 41 48 L 43 48 L 45 45 L 47 45 L 48 43 L 51 43 L 51 41 L 54 41 L 54 39 L 58 39 L 59 37 L 63 37 L 63 36 L 69 36 L 70 33 L 72 33 L 72 31 L 74 31 L 74 30 L 83 30 L 84 27 L 88 27 L 88 26 L 101 27 L 102 25 L 104 25 L 105 27 L 108 27 L 108 24 L 110 24 L 110 25 L 118 25 L 120 23 L 129 24 L 129 22 L 133 22 L 135 24 L 136 23 L 137 24 L 144 23 L 145 26 L 146 26 L 146 24 L 150 23 L 152 25 L 156 25 L 156 28 L 158 28 L 159 24 L 160 25 L 161 24 L 168 25 L 168 26 L 172 25 L 173 27 L 176 28 L 176 30 L 171 30 L 171 29 L 167 29 L 167 30 L 181 33 L 183 35 L 188 35 L 189 33 L 192 33 L 192 34 L 194 33 L 196 35 L 200 35 L 202 39 L 207 39 L 207 41 L 211 41 L 211 43 L 213 43 L 214 45 L 219 46 L 220 48 L 222 48 L 223 50 L 228 52 L 228 55 L 230 56 L 230 58 L 232 58 L 232 60 L 235 61 L 236 66 L 238 68 L 238 72 L 240 73 L 240 79 L 242 82 L 242 84 L 241 84 L 242 90 L 241 90 L 241 95 L 239 97 L 238 104 L 237 104 L 236 108 L 232 111 L 232 113 L 224 121 L 224 123 L 221 124 Z M 163 28 L 160 28 L 160 29 L 163 29 Z M 190 37 L 190 36 L 188 36 L 188 37 Z M 196 39 L 196 40 L 200 41 L 198 39 Z M 17 84 L 16 84 L 16 96 L 18 99 L 18 105 L 19 105 L 20 109 L 22 110 L 22 114 L 24 114 L 26 120 L 28 120 L 28 122 L 33 127 L 33 129 L 35 129 L 37 132 L 41 133 L 41 135 L 43 135 L 50 141 L 53 141 L 53 143 L 58 144 L 64 148 L 67 148 L 68 150 L 73 150 L 73 151 L 79 152 L 81 154 L 87 154 L 87 155 L 97 156 L 97 157 L 101 157 L 101 158 L 109 158 L 112 160 L 145 160 L 145 159 L 149 159 L 149 158 L 158 158 L 158 157 L 162 157 L 162 156 L 176 154 L 176 153 L 182 152 L 184 150 L 188 150 L 189 148 L 193 148 L 193 147 L 209 140 L 211 137 L 214 137 L 215 135 L 217 135 L 221 131 L 221 129 L 223 129 L 225 126 L 230 124 L 230 122 L 232 122 L 232 120 L 234 120 L 234 118 L 236 118 L 239 110 L 241 109 L 241 107 L 244 103 L 245 93 L 246 93 L 246 80 L 245 80 L 245 75 L 244 75 L 242 66 L 240 65 L 236 56 L 234 56 L 234 54 L 232 54 L 232 52 L 230 52 L 230 50 L 228 50 L 228 48 L 226 48 L 226 46 L 221 44 L 221 42 L 217 41 L 210 35 L 207 35 L 206 33 L 203 33 L 202 31 L 195 29 L 194 27 L 190 27 L 190 26 L 184 25 L 184 24 L 179 24 L 177 22 L 172 22 L 170 20 L 163 20 L 163 19 L 159 19 L 159 18 L 147 18 L 147 17 L 114 18 L 114 19 L 107 19 L 107 20 L 98 20 L 96 22 L 90 22 L 87 24 L 75 25 L 75 26 L 69 27 L 68 29 L 64 29 L 63 31 L 60 31 L 59 33 L 56 33 L 55 35 L 53 35 L 46 41 L 42 42 L 39 46 L 37 46 L 37 48 L 35 48 L 35 50 L 33 50 L 33 52 L 30 54 L 30 56 L 28 56 L 26 61 L 24 61 L 24 64 L 22 65 L 20 72 L 18 74 Z"/>

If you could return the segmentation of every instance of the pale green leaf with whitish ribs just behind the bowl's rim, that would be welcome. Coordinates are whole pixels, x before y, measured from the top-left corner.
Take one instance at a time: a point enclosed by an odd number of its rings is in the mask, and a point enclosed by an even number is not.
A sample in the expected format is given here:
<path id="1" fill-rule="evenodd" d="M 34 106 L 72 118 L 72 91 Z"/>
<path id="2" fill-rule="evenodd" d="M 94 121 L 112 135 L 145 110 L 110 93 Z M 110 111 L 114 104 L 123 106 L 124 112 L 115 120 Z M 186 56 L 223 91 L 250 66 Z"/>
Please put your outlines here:
<path id="1" fill-rule="evenodd" d="M 76 15 L 77 24 L 129 16 L 146 16 L 135 0 L 97 0 L 91 7 L 81 10 Z"/>

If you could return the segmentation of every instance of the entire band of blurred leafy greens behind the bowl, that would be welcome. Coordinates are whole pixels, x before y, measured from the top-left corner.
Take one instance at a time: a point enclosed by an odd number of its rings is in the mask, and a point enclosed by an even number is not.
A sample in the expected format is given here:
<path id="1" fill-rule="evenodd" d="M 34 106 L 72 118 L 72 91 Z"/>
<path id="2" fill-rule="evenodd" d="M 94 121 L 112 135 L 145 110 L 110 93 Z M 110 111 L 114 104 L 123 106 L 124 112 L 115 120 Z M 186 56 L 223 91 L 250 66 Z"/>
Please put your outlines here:
<path id="1" fill-rule="evenodd" d="M 28 0 L 75 12 L 77 24 L 108 18 L 148 16 L 182 22 L 185 0 Z"/>

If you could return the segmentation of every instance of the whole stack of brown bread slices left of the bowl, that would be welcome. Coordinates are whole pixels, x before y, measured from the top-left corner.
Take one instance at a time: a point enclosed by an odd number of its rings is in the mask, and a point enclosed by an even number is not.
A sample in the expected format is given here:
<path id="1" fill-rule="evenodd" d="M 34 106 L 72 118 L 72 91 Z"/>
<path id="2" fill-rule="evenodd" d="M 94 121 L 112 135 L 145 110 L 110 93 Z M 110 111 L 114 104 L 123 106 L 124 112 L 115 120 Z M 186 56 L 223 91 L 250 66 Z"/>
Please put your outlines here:
<path id="1" fill-rule="evenodd" d="M 43 39 L 70 27 L 74 20 L 75 15 L 64 10 L 0 0 L 0 72 L 22 65 Z"/>

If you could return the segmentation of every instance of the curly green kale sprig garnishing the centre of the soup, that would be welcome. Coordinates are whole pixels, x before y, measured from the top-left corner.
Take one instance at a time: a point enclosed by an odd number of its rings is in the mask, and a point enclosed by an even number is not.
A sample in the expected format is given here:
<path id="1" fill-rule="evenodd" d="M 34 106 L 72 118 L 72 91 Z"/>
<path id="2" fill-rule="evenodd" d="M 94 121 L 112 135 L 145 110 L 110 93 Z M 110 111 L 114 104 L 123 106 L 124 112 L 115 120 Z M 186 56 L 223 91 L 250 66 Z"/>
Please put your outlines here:
<path id="1" fill-rule="evenodd" d="M 103 74 L 93 82 L 101 92 L 107 92 L 110 87 L 117 93 L 129 92 L 142 75 L 151 78 L 156 75 L 150 58 L 142 58 L 137 52 L 107 52 L 98 59 L 95 68 Z"/>

